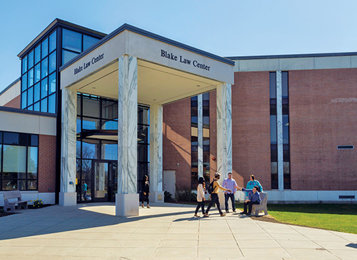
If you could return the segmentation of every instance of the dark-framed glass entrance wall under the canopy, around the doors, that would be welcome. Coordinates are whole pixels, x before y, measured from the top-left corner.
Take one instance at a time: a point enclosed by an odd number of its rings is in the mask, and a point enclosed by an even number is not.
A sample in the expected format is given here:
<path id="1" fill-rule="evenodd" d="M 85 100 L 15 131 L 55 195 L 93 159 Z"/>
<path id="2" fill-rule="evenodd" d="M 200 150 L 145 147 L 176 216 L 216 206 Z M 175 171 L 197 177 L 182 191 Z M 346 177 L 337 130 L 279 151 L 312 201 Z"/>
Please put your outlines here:
<path id="1" fill-rule="evenodd" d="M 77 95 L 77 194 L 83 194 L 81 189 L 85 182 L 89 197 L 94 185 L 92 161 L 118 161 L 118 136 L 89 138 L 90 130 L 118 130 L 118 100 Z M 149 108 L 138 106 L 138 182 L 145 174 L 149 174 Z M 83 198 L 77 200 L 83 201 Z"/>

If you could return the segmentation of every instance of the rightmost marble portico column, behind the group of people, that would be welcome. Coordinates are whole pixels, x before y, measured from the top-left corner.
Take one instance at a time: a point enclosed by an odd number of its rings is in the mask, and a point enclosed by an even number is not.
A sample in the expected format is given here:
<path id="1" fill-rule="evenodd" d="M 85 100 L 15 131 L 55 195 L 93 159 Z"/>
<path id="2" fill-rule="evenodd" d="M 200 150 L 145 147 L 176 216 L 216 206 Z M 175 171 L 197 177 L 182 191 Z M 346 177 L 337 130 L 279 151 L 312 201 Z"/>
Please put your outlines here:
<path id="1" fill-rule="evenodd" d="M 217 171 L 219 183 L 232 172 L 232 87 L 228 83 L 217 85 Z M 223 192 L 219 201 L 224 208 Z"/>

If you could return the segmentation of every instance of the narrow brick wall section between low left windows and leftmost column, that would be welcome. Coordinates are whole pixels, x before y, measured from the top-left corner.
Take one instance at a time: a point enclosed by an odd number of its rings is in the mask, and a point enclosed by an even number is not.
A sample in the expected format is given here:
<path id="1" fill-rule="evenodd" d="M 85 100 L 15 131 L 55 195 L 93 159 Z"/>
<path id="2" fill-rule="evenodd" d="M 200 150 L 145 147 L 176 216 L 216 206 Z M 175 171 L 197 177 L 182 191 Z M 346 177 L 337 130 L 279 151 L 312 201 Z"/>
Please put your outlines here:
<path id="1" fill-rule="evenodd" d="M 56 137 L 39 135 L 39 192 L 55 192 L 55 160 Z"/>

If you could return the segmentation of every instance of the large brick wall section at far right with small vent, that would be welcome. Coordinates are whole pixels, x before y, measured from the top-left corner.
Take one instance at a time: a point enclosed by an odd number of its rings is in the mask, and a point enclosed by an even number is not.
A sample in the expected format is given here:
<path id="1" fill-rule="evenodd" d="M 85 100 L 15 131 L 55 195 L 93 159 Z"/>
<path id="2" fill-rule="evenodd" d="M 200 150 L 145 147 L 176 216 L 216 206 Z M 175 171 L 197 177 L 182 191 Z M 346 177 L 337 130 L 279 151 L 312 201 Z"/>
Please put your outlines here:
<path id="1" fill-rule="evenodd" d="M 289 71 L 291 189 L 357 189 L 356 82 L 356 68 Z"/>

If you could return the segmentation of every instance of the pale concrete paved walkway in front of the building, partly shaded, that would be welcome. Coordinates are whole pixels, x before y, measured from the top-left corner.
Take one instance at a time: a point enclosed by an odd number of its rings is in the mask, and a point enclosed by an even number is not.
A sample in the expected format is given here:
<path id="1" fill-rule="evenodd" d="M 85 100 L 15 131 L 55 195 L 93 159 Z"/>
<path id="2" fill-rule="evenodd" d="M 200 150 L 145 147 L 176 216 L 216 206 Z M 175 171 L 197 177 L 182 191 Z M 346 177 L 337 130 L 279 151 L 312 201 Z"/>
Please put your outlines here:
<path id="1" fill-rule="evenodd" d="M 357 234 L 253 221 L 240 214 L 193 218 L 194 206 L 156 204 L 114 216 L 112 203 L 0 218 L 0 259 L 357 259 Z"/>

